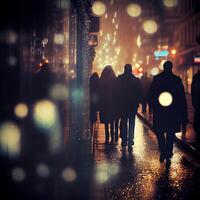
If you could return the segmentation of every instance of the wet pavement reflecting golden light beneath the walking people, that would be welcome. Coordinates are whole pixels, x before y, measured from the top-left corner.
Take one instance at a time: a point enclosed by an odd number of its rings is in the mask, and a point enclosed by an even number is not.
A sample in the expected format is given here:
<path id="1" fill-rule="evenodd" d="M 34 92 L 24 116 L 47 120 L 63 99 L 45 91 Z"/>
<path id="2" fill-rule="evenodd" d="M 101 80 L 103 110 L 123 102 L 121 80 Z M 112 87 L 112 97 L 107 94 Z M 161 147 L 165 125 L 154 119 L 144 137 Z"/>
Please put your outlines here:
<path id="1" fill-rule="evenodd" d="M 131 153 L 122 151 L 120 144 L 105 145 L 104 138 L 100 124 L 94 143 L 94 184 L 101 194 L 97 199 L 200 199 L 199 165 L 194 164 L 199 161 L 175 146 L 166 170 L 159 162 L 154 133 L 138 118 Z"/>

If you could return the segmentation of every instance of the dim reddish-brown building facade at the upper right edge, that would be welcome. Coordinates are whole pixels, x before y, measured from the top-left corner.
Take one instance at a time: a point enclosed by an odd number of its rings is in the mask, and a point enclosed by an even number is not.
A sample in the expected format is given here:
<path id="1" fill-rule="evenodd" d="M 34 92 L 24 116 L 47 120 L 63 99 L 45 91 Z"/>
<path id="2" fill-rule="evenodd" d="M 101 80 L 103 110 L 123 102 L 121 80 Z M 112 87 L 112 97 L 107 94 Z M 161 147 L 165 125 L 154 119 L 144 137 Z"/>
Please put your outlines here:
<path id="1" fill-rule="evenodd" d="M 176 67 L 181 76 L 186 92 L 191 93 L 193 75 L 200 69 L 198 59 L 200 45 L 200 1 L 178 1 L 179 24 L 174 29 L 174 46 L 177 48 Z"/>

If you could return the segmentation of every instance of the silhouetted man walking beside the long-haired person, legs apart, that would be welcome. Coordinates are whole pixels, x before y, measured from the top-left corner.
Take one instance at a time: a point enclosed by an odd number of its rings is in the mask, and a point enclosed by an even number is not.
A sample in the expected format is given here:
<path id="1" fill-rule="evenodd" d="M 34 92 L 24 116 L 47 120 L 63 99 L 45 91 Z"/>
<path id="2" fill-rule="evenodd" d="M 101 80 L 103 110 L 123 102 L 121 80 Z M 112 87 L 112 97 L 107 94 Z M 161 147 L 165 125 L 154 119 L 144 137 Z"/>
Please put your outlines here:
<path id="1" fill-rule="evenodd" d="M 132 150 L 134 145 L 135 115 L 141 98 L 141 86 L 139 79 L 132 74 L 132 66 L 126 64 L 124 73 L 117 78 L 118 105 L 121 117 L 122 147 Z"/>

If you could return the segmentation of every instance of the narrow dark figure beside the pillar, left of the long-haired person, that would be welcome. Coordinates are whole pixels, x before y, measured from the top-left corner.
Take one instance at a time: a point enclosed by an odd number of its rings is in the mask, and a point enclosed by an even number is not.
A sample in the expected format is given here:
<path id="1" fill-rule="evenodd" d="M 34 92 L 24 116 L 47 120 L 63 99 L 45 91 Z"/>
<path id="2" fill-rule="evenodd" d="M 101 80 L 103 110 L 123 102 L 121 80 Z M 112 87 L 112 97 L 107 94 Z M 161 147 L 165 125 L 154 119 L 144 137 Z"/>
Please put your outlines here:
<path id="1" fill-rule="evenodd" d="M 90 124 L 91 133 L 97 121 L 97 111 L 99 108 L 99 75 L 95 72 L 90 77 Z"/>

